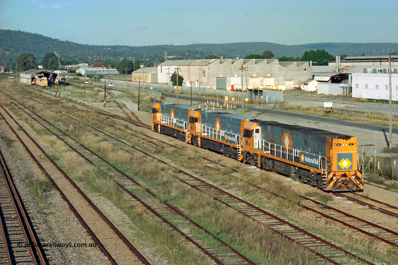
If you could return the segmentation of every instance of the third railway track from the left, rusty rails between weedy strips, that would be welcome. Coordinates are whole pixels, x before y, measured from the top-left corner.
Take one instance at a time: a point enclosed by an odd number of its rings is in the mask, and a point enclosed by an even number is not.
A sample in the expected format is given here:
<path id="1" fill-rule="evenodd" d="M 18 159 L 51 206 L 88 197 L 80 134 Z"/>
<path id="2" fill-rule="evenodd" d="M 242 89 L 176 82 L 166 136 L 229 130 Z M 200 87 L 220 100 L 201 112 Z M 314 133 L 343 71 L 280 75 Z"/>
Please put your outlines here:
<path id="1" fill-rule="evenodd" d="M 50 132 L 54 133 L 59 139 L 61 139 L 65 144 L 68 144 L 68 139 L 74 140 L 72 137 L 68 136 L 66 133 L 56 129 L 49 123 L 45 121 L 45 119 L 41 118 L 39 115 L 34 113 L 32 110 L 28 109 L 27 107 L 23 106 L 20 103 L 14 103 L 18 106 L 21 110 L 23 110 L 27 115 L 29 115 L 32 119 L 43 125 L 46 129 Z M 24 110 L 27 109 L 28 111 Z M 30 113 L 28 113 L 30 112 Z M 34 114 L 33 114 L 34 113 Z M 52 127 L 52 128 L 51 128 Z M 51 128 L 51 129 L 50 129 Z M 94 127 L 93 127 L 94 128 Z M 58 131 L 58 133 L 55 133 Z M 110 137 L 106 133 L 103 133 L 101 137 Z M 76 140 L 75 140 L 76 141 Z M 111 141 L 117 142 L 117 138 L 111 138 Z M 120 141 L 120 140 L 119 140 Z M 78 143 L 78 142 L 76 142 Z M 185 216 L 182 212 L 178 211 L 177 208 L 164 203 L 163 205 L 159 205 L 160 198 L 158 198 L 154 193 L 149 190 L 146 190 L 147 194 L 143 194 L 144 199 L 138 198 L 136 195 L 130 192 L 131 189 L 142 188 L 142 185 L 137 182 L 135 179 L 131 178 L 130 176 L 126 175 L 120 170 L 117 170 L 114 166 L 108 163 L 106 160 L 101 158 L 100 156 L 96 155 L 94 152 L 86 148 L 85 146 L 81 145 L 78 147 L 70 146 L 75 152 L 77 152 L 80 156 L 82 156 L 86 161 L 90 164 L 96 165 L 103 171 L 106 171 L 108 175 L 110 175 L 116 183 L 126 192 L 128 193 L 131 198 L 135 201 L 139 201 L 142 207 L 145 207 L 147 211 L 152 212 L 158 218 L 160 218 L 163 222 L 166 222 L 170 227 L 174 230 L 179 232 L 184 238 L 189 240 L 192 244 L 199 247 L 201 251 L 203 251 L 206 255 L 208 255 L 211 259 L 213 259 L 217 264 L 256 264 L 247 257 L 245 257 L 242 253 L 238 252 L 233 247 L 229 246 L 220 238 L 211 234 L 209 231 L 205 230 L 205 228 L 199 226 L 199 224 L 195 223 L 189 217 Z M 132 150 L 137 150 L 133 146 L 131 146 Z M 112 168 L 113 170 L 110 170 Z M 161 214 L 159 213 L 161 212 Z M 189 232 L 182 232 L 177 226 L 182 226 L 184 230 L 188 230 Z M 198 230 L 199 228 L 199 230 Z M 208 242 L 201 238 L 205 238 L 206 236 L 211 236 L 220 244 L 209 245 Z M 195 238 L 195 239 L 193 239 Z M 210 252 L 210 251 L 212 252 Z"/>

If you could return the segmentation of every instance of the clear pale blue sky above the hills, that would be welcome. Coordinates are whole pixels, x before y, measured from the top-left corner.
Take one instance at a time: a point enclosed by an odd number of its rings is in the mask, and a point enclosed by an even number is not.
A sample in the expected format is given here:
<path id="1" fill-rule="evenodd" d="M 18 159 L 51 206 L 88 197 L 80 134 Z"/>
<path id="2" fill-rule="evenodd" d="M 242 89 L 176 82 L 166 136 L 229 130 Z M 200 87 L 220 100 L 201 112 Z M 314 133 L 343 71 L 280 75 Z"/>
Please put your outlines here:
<path id="1" fill-rule="evenodd" d="M 93 45 L 397 43 L 397 11 L 385 0 L 0 0 L 0 29 Z"/>

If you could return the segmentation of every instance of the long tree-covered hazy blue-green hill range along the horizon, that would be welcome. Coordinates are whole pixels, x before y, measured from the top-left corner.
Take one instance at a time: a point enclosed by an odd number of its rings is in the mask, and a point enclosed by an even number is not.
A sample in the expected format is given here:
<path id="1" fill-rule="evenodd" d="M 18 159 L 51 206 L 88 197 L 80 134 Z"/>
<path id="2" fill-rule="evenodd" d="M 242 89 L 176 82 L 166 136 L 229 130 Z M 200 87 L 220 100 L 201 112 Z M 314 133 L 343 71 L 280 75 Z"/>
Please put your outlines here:
<path id="1" fill-rule="evenodd" d="M 32 53 L 41 62 L 46 53 L 59 53 L 64 60 L 105 60 L 118 61 L 121 58 L 145 58 L 150 61 L 161 60 L 164 52 L 168 56 L 186 58 L 187 51 L 191 58 L 203 58 L 207 55 L 217 55 L 224 58 L 240 56 L 244 58 L 251 53 L 261 54 L 265 50 L 272 51 L 276 57 L 301 57 L 310 49 L 325 49 L 331 55 L 388 55 L 398 51 L 398 43 L 309 43 L 302 45 L 281 45 L 269 42 L 245 42 L 223 44 L 192 44 L 192 45 L 152 45 L 152 46 L 122 46 L 122 45 L 83 45 L 70 41 L 60 41 L 36 33 L 0 29 L 0 63 L 15 61 L 21 53 Z"/>

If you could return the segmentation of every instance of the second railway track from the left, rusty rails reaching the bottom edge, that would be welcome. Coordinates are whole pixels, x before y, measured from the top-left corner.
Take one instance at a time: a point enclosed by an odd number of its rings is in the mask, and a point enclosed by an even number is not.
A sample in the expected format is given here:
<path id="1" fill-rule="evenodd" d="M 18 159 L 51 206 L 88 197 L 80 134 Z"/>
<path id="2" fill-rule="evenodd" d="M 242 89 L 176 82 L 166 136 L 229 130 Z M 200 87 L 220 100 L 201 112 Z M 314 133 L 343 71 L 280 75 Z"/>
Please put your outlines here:
<path id="1" fill-rule="evenodd" d="M 78 222 L 86 229 L 96 246 L 104 253 L 111 264 L 122 264 L 126 260 L 134 262 L 135 264 L 146 264 L 149 265 L 148 261 L 135 249 L 133 245 L 119 232 L 119 230 L 105 217 L 105 215 L 88 199 L 88 197 L 82 192 L 82 190 L 66 175 L 66 173 L 48 156 L 48 154 L 29 136 L 29 134 L 21 127 L 21 125 L 1 106 L 1 115 L 5 119 L 6 123 L 13 131 L 13 133 L 20 140 L 21 144 L 25 147 L 25 150 L 35 160 L 36 164 L 41 168 L 43 173 L 48 177 L 53 187 L 60 193 L 62 199 L 68 204 L 70 210 L 74 216 L 78 219 Z M 10 122 L 8 122 L 10 121 Z M 14 125 L 10 124 L 11 121 Z M 23 136 L 16 133 L 14 128 L 20 128 L 23 132 Z M 22 139 L 25 138 L 25 139 Z M 26 144 L 29 140 L 31 143 Z M 31 149 L 38 149 L 31 151 Z M 36 156 L 33 154 L 43 153 L 45 157 L 52 164 L 51 166 L 43 165 L 40 163 Z M 55 171 L 58 171 L 62 177 L 57 175 Z M 51 172 L 51 173 L 49 173 Z M 82 203 L 84 201 L 84 203 Z M 76 210 L 79 208 L 79 211 Z M 86 221 L 90 220 L 90 222 Z M 94 221 L 94 222 L 93 222 Z M 123 256 L 119 255 L 120 251 L 124 253 Z"/>

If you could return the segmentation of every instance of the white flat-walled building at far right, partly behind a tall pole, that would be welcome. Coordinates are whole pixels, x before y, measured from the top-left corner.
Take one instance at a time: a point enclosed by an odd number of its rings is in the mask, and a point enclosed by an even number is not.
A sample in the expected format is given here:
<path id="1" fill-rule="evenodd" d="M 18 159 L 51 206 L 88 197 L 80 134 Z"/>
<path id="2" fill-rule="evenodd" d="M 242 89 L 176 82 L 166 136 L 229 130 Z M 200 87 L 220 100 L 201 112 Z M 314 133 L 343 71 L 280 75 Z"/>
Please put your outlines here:
<path id="1" fill-rule="evenodd" d="M 392 100 L 398 100 L 398 74 L 391 71 Z M 352 73 L 352 97 L 389 99 L 389 77 L 386 73 Z"/>

